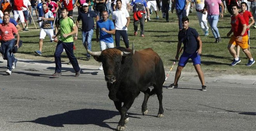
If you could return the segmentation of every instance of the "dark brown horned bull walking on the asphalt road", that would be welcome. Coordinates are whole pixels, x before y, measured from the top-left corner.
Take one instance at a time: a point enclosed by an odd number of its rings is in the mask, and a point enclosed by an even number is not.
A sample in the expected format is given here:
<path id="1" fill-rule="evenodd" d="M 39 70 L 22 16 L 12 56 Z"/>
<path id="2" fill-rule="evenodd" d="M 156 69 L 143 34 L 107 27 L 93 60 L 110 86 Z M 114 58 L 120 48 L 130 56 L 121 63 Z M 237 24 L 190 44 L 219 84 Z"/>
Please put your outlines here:
<path id="1" fill-rule="evenodd" d="M 116 109 L 121 114 L 117 126 L 118 131 L 125 130 L 125 124 L 129 120 L 126 113 L 140 92 L 144 93 L 142 114 L 148 113 L 147 101 L 149 96 L 157 94 L 159 101 L 157 117 L 164 116 L 162 86 L 165 74 L 163 62 L 156 52 L 151 48 L 135 51 L 134 45 L 132 50 L 115 47 L 101 52 L 91 52 L 87 49 L 87 52 L 93 55 L 95 60 L 102 62 L 109 89 L 108 96 L 114 101 Z M 154 87 L 151 91 L 150 86 Z"/>

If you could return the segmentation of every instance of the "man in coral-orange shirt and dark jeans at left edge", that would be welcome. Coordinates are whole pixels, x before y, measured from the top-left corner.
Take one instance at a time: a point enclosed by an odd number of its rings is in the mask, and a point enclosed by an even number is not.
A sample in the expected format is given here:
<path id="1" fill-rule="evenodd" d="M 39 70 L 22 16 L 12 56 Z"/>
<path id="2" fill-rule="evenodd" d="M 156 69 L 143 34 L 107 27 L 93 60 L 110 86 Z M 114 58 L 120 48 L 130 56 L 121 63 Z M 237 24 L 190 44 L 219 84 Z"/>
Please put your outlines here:
<path id="1" fill-rule="evenodd" d="M 11 75 L 12 69 L 16 67 L 17 59 L 12 55 L 12 48 L 14 47 L 15 37 L 17 36 L 16 45 L 19 48 L 19 33 L 14 24 L 9 22 L 9 15 L 3 15 L 3 23 L 0 24 L 0 32 L 2 36 L 1 40 L 1 52 L 4 59 L 7 60 L 7 71 L 5 72 L 8 75 Z"/>

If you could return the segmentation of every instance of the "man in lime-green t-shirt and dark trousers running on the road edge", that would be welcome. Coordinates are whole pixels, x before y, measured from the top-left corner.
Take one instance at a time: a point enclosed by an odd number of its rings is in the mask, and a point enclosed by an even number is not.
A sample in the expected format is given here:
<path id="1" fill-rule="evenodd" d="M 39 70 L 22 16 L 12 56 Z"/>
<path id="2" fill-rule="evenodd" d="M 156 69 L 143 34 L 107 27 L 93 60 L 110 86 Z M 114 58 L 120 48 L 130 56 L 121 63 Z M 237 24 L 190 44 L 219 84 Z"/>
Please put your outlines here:
<path id="1" fill-rule="evenodd" d="M 66 50 L 67 57 L 69 58 L 74 70 L 76 71 L 75 76 L 80 75 L 80 67 L 78 61 L 73 53 L 73 34 L 76 34 L 77 29 L 73 20 L 67 16 L 67 8 L 61 8 L 62 18 L 59 20 L 60 30 L 56 35 L 52 36 L 54 39 L 60 35 L 58 44 L 55 49 L 54 58 L 55 58 L 55 73 L 52 76 L 61 76 L 61 54 L 63 49 Z"/>

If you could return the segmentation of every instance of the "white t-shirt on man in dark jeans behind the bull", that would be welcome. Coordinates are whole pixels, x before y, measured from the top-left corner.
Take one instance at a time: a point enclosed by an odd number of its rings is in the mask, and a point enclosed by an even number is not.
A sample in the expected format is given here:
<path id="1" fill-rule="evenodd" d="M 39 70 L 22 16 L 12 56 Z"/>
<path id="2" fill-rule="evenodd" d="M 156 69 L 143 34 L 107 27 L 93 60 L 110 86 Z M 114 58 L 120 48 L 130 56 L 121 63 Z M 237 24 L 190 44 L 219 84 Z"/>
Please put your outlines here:
<path id="1" fill-rule="evenodd" d="M 115 29 L 116 30 L 127 30 L 127 27 L 125 27 L 127 22 L 127 17 L 130 17 L 129 12 L 123 7 L 121 10 L 116 9 L 116 11 L 113 12 L 112 19 L 115 20 Z"/>

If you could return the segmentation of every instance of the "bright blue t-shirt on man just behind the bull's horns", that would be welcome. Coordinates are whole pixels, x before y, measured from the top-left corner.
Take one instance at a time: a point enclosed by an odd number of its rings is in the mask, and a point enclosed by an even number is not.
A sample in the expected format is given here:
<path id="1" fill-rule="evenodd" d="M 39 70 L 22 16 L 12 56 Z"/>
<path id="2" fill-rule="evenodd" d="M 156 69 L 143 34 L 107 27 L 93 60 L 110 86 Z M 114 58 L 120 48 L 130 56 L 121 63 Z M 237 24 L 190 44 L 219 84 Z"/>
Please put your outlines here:
<path id="1" fill-rule="evenodd" d="M 114 23 L 107 19 L 106 22 L 103 20 L 97 21 L 97 27 L 100 29 L 100 40 L 104 41 L 106 43 L 114 43 L 114 39 L 112 38 L 112 34 L 108 34 L 107 32 L 102 31 L 102 28 L 105 28 L 106 30 L 114 30 Z"/>

